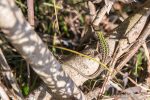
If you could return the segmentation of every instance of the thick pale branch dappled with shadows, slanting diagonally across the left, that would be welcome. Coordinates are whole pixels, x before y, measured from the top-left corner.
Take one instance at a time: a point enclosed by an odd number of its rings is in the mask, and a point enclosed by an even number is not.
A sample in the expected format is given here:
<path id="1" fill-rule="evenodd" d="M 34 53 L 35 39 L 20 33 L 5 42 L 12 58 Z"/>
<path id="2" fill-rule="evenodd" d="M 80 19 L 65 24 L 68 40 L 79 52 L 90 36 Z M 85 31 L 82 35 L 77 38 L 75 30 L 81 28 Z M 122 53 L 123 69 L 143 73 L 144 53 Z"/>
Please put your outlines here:
<path id="1" fill-rule="evenodd" d="M 14 0 L 0 0 L 0 27 L 57 100 L 85 100 L 83 93 L 63 71 L 48 47 L 25 20 Z"/>

